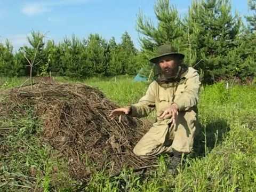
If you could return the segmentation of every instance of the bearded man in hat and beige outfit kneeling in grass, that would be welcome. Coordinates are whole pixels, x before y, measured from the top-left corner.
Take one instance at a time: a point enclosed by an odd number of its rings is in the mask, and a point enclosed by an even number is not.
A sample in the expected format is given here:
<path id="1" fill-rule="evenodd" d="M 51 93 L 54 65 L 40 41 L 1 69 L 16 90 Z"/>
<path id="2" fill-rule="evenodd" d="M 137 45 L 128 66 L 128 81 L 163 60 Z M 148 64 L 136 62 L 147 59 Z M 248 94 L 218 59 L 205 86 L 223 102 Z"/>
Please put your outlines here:
<path id="1" fill-rule="evenodd" d="M 110 117 L 131 115 L 145 117 L 156 109 L 157 122 L 134 147 L 135 155 L 142 158 L 161 153 L 172 155 L 170 172 L 177 173 L 183 153 L 193 147 L 197 125 L 197 102 L 199 75 L 192 67 L 183 65 L 185 55 L 175 52 L 171 45 L 162 45 L 157 56 L 150 59 L 155 63 L 156 79 L 138 103 L 118 108 Z"/>

